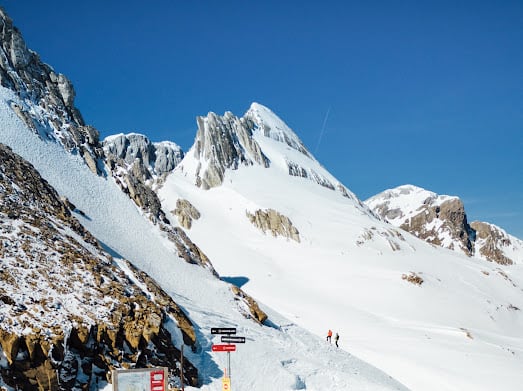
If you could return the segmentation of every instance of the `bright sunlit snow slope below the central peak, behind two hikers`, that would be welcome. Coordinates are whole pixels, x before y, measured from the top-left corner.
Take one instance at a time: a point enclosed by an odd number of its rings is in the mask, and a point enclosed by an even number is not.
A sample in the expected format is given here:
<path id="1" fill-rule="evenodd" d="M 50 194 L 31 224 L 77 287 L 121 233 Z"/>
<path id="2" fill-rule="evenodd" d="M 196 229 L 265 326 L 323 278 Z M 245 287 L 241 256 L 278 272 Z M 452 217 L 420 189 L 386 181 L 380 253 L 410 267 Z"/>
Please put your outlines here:
<path id="1" fill-rule="evenodd" d="M 191 168 L 205 162 L 189 151 L 159 192 L 166 211 L 178 198 L 200 211 L 188 234 L 218 273 L 318 337 L 338 331 L 342 349 L 413 390 L 519 389 L 521 265 L 501 268 L 436 248 L 373 217 L 357 199 L 289 176 L 285 162 L 293 161 L 336 183 L 311 156 L 264 131 L 265 121 L 285 131 L 281 120 L 257 112 L 253 137 L 269 168 L 240 166 L 222 186 L 202 190 Z M 290 218 L 300 243 L 266 235 L 246 217 L 268 208 Z M 421 286 L 402 279 L 411 272 Z"/>

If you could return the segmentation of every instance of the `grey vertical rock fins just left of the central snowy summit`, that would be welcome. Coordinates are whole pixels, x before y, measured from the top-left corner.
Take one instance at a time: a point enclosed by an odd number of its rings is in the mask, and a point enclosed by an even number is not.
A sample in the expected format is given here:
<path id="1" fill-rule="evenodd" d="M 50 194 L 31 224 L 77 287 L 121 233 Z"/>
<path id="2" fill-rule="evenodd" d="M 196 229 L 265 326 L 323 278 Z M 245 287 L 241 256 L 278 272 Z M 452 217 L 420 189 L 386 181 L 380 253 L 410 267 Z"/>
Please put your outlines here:
<path id="1" fill-rule="evenodd" d="M 252 137 L 254 123 L 238 118 L 231 112 L 223 116 L 209 113 L 197 117 L 198 132 L 193 146 L 196 184 L 209 189 L 222 184 L 226 169 L 237 169 L 240 164 L 259 164 L 269 167 L 269 160 Z"/>

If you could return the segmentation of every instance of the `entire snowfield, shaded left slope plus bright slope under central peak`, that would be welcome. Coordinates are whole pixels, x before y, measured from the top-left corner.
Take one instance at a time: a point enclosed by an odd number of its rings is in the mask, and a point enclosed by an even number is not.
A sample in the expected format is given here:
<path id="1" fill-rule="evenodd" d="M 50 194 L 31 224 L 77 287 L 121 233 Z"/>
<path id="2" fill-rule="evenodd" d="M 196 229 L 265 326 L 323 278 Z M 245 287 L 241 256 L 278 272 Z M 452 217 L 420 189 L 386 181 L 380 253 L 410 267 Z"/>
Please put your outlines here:
<path id="1" fill-rule="evenodd" d="M 236 327 L 247 339 L 231 354 L 233 390 L 521 388 L 522 264 L 501 267 L 433 247 L 376 219 L 357 199 L 291 177 L 285 160 L 337 183 L 314 159 L 256 132 L 270 168 L 241 166 L 226 172 L 222 186 L 201 190 L 189 151 L 159 191 L 168 214 L 178 198 L 200 211 L 187 234 L 220 281 L 180 259 L 111 178 L 31 133 L 9 101 L 19 100 L 0 88 L 0 142 L 85 213 L 76 217 L 113 256 L 147 272 L 190 316 L 200 346 L 188 357 L 202 390 L 220 390 L 227 365 L 226 353 L 211 352 L 219 343 L 212 327 Z M 256 108 L 260 121 L 285 129 Z M 250 223 L 247 211 L 268 208 L 292 221 L 300 243 Z M 402 278 L 411 273 L 423 283 Z M 226 281 L 260 303 L 266 326 L 241 315 Z M 329 328 L 340 334 L 339 349 L 325 341 Z"/>

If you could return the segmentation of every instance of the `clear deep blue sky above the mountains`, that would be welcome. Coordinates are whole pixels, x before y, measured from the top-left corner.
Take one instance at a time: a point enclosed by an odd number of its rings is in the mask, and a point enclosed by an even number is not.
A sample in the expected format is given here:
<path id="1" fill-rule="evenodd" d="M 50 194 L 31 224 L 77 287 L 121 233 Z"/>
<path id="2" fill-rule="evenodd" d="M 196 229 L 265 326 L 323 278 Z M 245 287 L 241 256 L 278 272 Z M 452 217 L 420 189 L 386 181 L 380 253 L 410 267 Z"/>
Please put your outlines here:
<path id="1" fill-rule="evenodd" d="M 0 4 L 102 136 L 187 150 L 257 101 L 361 199 L 411 183 L 523 238 L 523 1 Z"/>

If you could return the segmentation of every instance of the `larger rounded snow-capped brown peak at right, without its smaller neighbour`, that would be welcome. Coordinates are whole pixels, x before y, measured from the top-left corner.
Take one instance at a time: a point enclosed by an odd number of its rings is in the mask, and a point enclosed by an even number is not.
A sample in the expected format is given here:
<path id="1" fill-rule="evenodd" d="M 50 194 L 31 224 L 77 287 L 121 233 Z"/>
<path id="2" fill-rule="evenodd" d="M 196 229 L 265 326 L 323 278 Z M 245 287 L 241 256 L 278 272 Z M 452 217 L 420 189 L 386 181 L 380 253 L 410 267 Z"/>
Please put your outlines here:
<path id="1" fill-rule="evenodd" d="M 371 197 L 365 204 L 391 224 L 429 243 L 474 254 L 474 230 L 458 197 L 404 185 Z"/>

